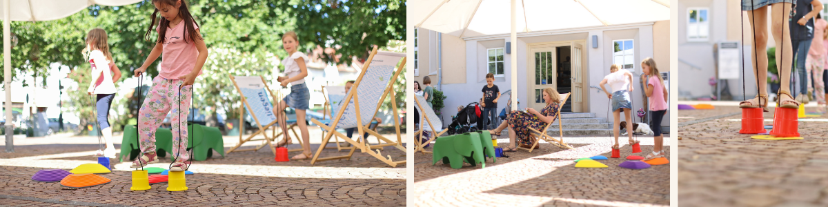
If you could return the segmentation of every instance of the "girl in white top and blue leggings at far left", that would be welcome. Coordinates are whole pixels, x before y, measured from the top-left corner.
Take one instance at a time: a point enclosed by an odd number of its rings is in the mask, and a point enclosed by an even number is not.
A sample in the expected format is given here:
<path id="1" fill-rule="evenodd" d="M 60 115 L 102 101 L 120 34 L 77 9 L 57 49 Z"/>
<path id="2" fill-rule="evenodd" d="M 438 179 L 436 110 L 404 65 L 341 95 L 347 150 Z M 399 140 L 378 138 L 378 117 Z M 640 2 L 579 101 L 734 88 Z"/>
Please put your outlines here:
<path id="1" fill-rule="evenodd" d="M 115 158 L 115 147 L 112 144 L 112 128 L 109 126 L 109 107 L 112 99 L 115 98 L 115 81 L 121 79 L 121 70 L 112 59 L 109 53 L 106 31 L 95 28 L 86 35 L 86 48 L 81 51 L 85 58 L 89 59 L 92 66 L 92 83 L 86 91 L 91 96 L 95 94 L 97 101 L 95 108 L 98 114 L 98 128 L 106 141 L 106 149 L 95 152 L 95 156 L 106 156 Z"/>

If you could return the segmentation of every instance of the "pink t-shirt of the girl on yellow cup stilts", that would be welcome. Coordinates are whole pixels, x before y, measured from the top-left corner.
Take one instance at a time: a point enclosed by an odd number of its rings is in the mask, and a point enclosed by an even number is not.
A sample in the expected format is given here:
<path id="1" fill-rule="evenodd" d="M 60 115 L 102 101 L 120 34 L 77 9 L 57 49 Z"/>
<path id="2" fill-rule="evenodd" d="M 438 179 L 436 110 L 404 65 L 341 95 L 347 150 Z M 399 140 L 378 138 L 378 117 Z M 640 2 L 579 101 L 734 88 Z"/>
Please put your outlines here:
<path id="1" fill-rule="evenodd" d="M 190 74 L 195 67 L 195 60 L 199 56 L 199 50 L 195 48 L 195 41 L 184 41 L 185 36 L 189 32 L 184 33 L 184 21 L 181 21 L 173 28 L 166 28 L 164 35 L 164 50 L 161 51 L 161 71 L 158 75 L 165 79 L 179 79 L 179 77 Z M 193 23 L 193 27 L 198 30 L 199 26 Z M 156 27 L 156 32 L 160 32 L 161 26 Z M 204 73 L 204 70 L 199 72 L 199 75 Z"/>

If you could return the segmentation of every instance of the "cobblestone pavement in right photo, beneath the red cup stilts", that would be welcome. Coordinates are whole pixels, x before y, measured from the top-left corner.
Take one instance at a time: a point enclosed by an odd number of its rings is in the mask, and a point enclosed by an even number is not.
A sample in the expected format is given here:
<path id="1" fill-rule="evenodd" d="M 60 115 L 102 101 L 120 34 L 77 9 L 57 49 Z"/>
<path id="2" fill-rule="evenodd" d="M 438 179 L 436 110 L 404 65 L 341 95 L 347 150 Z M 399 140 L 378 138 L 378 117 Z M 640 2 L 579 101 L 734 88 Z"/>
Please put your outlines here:
<path id="1" fill-rule="evenodd" d="M 686 125 L 678 134 L 681 206 L 828 205 L 828 115 L 801 119 L 805 139 L 768 141 L 738 133 L 736 103 L 715 107 L 678 112 L 679 126 Z M 766 125 L 773 124 L 769 109 Z M 806 105 L 813 110 L 816 104 Z"/>

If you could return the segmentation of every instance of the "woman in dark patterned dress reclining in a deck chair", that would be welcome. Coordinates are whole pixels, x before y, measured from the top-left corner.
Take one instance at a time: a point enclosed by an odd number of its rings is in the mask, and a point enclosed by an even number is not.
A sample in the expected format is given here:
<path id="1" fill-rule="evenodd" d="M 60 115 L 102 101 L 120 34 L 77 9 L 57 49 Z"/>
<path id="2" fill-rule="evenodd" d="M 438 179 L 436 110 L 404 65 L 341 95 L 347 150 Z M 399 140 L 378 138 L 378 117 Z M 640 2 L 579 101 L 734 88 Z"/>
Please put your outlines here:
<path id="1" fill-rule="evenodd" d="M 507 126 L 510 128 L 509 147 L 503 151 L 516 152 L 516 141 L 520 142 L 521 147 L 532 147 L 532 138 L 529 136 L 532 131 L 529 128 L 542 129 L 546 127 L 546 124 L 558 118 L 558 104 L 561 104 L 561 95 L 558 91 L 552 88 L 543 89 L 543 101 L 546 106 L 540 112 L 534 108 L 526 108 L 526 112 L 514 110 L 509 113 L 506 122 L 500 123 L 500 126 L 494 130 L 489 130 L 493 136 L 499 136 L 504 128 Z"/>

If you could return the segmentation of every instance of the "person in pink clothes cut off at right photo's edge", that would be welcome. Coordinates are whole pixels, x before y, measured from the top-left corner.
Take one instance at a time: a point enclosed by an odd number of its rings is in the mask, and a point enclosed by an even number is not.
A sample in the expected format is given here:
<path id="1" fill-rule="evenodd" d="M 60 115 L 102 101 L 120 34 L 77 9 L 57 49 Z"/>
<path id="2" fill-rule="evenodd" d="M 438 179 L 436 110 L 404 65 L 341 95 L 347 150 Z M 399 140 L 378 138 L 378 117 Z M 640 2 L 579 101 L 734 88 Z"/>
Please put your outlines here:
<path id="1" fill-rule="evenodd" d="M 825 97 L 825 83 L 822 82 L 822 72 L 825 70 L 826 48 L 820 44 L 825 38 L 826 22 L 822 19 L 820 14 L 816 14 L 816 21 L 814 21 L 814 40 L 811 41 L 811 50 L 808 51 L 808 58 L 806 59 L 806 69 L 810 73 L 813 81 L 813 94 L 816 96 L 816 103 L 820 106 L 817 111 L 822 112 L 822 105 L 826 104 Z M 811 89 L 811 81 L 808 89 Z"/>

